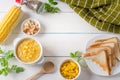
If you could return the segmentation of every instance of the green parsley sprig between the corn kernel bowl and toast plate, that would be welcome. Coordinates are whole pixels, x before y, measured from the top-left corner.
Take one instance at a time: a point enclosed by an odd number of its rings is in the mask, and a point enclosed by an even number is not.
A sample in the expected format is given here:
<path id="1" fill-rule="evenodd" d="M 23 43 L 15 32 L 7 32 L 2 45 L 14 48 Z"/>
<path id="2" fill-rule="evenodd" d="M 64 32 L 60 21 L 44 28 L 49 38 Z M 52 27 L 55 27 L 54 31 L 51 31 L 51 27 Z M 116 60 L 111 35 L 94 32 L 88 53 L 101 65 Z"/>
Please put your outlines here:
<path id="1" fill-rule="evenodd" d="M 87 68 L 85 60 L 82 58 L 79 51 L 71 52 L 70 57 L 75 59 L 83 68 Z"/>

